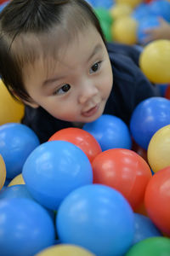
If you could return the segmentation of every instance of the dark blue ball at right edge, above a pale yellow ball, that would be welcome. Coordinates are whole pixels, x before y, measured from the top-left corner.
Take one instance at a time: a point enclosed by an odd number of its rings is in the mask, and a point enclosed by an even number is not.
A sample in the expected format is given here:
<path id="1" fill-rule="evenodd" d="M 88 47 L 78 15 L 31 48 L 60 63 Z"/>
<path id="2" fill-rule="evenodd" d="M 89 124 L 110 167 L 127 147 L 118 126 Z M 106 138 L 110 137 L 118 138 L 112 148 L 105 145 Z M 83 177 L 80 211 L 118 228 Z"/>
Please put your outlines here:
<path id="1" fill-rule="evenodd" d="M 134 109 L 130 131 L 134 141 L 147 150 L 151 137 L 165 125 L 170 125 L 170 101 L 163 97 L 151 97 Z"/>

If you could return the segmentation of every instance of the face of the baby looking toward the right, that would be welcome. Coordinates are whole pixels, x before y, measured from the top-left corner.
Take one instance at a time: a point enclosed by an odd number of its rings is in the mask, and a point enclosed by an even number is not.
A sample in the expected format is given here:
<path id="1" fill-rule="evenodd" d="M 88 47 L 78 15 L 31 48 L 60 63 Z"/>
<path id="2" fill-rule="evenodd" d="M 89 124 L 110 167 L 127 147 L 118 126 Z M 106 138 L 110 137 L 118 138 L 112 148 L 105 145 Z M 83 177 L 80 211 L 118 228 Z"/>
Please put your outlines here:
<path id="1" fill-rule="evenodd" d="M 50 46 L 49 46 L 50 47 Z M 92 122 L 103 113 L 111 93 L 111 62 L 99 32 L 88 26 L 49 56 L 25 68 L 24 83 L 35 103 L 57 119 Z M 48 70 L 47 70 L 48 67 Z"/>

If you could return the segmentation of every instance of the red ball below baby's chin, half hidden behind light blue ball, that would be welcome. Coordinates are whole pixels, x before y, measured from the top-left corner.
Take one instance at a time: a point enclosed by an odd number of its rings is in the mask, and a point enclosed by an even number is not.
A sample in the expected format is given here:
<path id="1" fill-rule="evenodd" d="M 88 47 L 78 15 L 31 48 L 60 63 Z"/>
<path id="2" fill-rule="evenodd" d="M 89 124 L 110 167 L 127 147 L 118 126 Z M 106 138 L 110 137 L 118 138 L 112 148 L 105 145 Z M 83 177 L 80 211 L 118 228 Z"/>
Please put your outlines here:
<path id="1" fill-rule="evenodd" d="M 48 139 L 48 142 L 50 141 L 66 141 L 75 144 L 88 156 L 90 162 L 102 151 L 94 136 L 88 131 L 79 128 L 65 128 L 59 130 Z"/>

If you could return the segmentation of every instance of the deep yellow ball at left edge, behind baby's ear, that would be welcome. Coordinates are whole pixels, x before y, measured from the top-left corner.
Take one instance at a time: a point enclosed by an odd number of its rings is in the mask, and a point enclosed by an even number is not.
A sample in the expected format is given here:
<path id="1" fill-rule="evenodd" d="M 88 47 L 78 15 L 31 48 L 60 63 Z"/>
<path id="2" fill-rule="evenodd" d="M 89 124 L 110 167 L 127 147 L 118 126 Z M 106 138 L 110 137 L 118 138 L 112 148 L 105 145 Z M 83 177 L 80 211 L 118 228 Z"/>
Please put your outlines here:
<path id="1" fill-rule="evenodd" d="M 24 104 L 14 100 L 0 79 L 0 125 L 20 122 L 23 114 Z"/>

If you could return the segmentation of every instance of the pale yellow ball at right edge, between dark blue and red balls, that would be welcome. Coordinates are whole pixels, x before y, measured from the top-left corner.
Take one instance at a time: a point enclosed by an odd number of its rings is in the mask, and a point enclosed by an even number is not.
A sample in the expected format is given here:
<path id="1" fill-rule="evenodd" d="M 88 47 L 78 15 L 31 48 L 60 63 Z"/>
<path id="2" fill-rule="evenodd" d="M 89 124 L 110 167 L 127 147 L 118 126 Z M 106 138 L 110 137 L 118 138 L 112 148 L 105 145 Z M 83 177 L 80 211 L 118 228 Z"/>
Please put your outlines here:
<path id="1" fill-rule="evenodd" d="M 153 172 L 170 166 L 170 125 L 156 131 L 150 140 L 147 154 Z"/>

